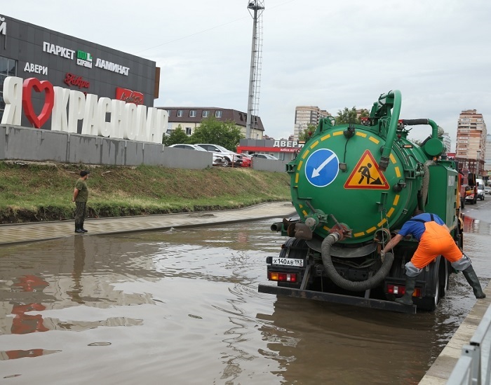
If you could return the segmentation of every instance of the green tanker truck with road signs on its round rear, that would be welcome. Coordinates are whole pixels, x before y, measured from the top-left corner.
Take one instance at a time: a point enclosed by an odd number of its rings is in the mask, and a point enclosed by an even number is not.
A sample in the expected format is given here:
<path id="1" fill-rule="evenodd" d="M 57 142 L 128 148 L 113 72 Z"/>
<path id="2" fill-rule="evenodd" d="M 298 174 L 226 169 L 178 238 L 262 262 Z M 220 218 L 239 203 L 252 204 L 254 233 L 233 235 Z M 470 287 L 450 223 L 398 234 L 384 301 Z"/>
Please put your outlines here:
<path id="1" fill-rule="evenodd" d="M 401 92 L 380 95 L 362 124 L 322 119 L 286 165 L 298 217 L 274 223 L 288 236 L 267 257 L 260 292 L 391 311 L 433 311 L 448 289 L 450 264 L 439 256 L 419 274 L 413 306 L 394 302 L 405 292 L 405 268 L 417 241 L 405 238 L 394 254 L 380 250 L 416 210 L 434 212 L 462 248 L 459 173 L 445 156 L 430 119 L 399 119 Z M 426 126 L 426 127 L 419 127 Z M 431 129 L 419 146 L 410 130 Z"/>

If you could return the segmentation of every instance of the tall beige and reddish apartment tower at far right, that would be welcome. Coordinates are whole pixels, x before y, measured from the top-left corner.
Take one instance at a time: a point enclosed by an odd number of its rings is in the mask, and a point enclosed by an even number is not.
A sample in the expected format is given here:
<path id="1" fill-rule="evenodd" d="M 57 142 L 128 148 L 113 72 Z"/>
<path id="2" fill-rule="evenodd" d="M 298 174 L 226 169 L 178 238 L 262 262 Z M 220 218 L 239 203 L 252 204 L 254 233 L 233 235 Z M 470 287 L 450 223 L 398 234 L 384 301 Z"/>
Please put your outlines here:
<path id="1" fill-rule="evenodd" d="M 486 156 L 487 129 L 483 114 L 476 109 L 466 109 L 459 115 L 455 158 L 475 164 L 471 172 L 483 175 Z"/>

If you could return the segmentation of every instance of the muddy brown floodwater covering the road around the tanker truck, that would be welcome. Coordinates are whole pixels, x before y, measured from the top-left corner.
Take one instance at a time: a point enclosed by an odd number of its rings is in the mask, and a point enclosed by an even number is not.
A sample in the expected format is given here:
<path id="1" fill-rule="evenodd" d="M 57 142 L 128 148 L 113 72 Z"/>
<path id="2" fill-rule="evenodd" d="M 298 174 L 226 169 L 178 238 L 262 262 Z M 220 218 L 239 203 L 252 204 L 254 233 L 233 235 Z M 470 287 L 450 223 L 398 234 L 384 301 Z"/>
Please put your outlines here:
<path id="1" fill-rule="evenodd" d="M 465 211 L 486 285 L 491 198 Z M 462 274 L 416 315 L 258 293 L 278 220 L 0 247 L 0 382 L 417 384 L 476 302 Z"/>

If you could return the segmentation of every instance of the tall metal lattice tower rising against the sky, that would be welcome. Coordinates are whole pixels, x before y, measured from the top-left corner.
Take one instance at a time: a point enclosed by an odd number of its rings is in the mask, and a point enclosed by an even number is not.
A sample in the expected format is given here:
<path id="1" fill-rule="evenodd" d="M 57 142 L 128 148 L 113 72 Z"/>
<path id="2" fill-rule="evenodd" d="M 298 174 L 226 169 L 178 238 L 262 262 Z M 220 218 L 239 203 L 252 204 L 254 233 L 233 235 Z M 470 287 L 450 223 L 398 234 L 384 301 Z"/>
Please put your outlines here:
<path id="1" fill-rule="evenodd" d="M 247 6 L 253 17 L 253 48 L 250 53 L 249 95 L 247 107 L 247 124 L 245 137 L 250 139 L 251 130 L 257 129 L 257 114 L 259 114 L 259 96 L 262 66 L 262 12 L 264 0 L 249 0 Z"/>

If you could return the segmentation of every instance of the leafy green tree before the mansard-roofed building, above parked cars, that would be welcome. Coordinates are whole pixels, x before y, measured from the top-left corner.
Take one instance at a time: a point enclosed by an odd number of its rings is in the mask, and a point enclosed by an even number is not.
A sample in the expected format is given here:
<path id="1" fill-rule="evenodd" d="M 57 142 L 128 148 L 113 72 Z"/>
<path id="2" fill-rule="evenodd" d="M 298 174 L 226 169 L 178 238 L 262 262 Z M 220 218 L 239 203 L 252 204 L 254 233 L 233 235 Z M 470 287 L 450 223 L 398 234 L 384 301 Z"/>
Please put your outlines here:
<path id="1" fill-rule="evenodd" d="M 233 121 L 217 121 L 210 116 L 201 121 L 199 127 L 191 135 L 191 143 L 212 143 L 236 151 L 238 142 L 244 137 L 240 128 Z"/>

